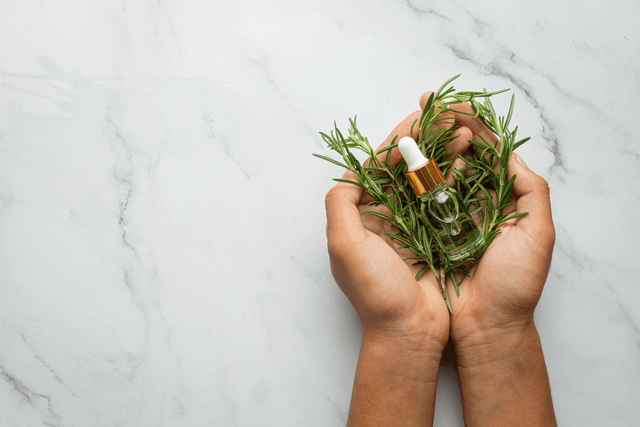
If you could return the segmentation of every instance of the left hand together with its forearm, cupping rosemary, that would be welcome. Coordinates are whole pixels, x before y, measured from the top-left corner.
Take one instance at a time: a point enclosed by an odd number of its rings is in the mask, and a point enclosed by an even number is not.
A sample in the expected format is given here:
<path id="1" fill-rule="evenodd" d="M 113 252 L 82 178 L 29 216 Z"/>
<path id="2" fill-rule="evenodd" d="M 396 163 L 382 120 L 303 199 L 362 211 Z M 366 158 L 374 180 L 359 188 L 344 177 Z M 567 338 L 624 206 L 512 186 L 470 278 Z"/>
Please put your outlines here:
<path id="1" fill-rule="evenodd" d="M 417 111 L 383 142 L 417 135 Z M 442 126 L 445 126 L 442 124 Z M 452 124 L 446 124 L 452 127 Z M 400 162 L 390 152 L 392 165 Z M 355 180 L 351 172 L 343 178 Z M 370 199 L 353 184 L 338 184 L 326 195 L 326 236 L 331 272 L 356 309 L 363 334 L 348 426 L 431 426 L 442 350 L 449 338 L 449 311 L 433 275 L 415 280 L 417 267 L 396 251 L 385 232 L 390 223 L 363 214 Z"/>

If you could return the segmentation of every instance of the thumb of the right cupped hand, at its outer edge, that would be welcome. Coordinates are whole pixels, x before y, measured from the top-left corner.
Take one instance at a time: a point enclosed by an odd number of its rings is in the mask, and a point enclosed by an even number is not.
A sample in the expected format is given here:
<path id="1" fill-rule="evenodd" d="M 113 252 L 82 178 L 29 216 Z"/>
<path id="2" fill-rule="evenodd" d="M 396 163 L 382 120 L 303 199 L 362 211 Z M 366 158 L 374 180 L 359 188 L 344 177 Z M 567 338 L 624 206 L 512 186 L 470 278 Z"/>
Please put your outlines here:
<path id="1" fill-rule="evenodd" d="M 551 218 L 551 200 L 549 184 L 542 176 L 529 169 L 518 154 L 511 154 L 508 179 L 516 175 L 513 181 L 513 193 L 516 194 L 518 214 L 528 212 L 518 218 L 516 225 L 545 247 L 553 247 L 555 230 Z"/>

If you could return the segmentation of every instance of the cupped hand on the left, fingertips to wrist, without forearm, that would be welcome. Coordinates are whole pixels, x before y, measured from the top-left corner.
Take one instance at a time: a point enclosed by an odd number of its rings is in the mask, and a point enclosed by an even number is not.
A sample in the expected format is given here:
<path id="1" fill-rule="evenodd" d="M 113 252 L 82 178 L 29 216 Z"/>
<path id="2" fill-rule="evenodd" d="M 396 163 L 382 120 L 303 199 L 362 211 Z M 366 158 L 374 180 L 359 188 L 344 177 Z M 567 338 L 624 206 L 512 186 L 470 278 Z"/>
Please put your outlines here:
<path id="1" fill-rule="evenodd" d="M 409 115 L 378 149 L 388 146 L 396 136 L 417 135 L 418 125 L 413 132 L 412 125 L 420 121 L 421 114 L 417 111 Z M 394 148 L 390 164 L 395 166 L 400 159 Z M 343 178 L 356 179 L 351 172 Z M 358 313 L 363 335 L 375 332 L 429 337 L 444 348 L 449 338 L 449 312 L 433 275 L 427 273 L 415 280 L 421 266 L 403 260 L 415 255 L 395 250 L 400 244 L 385 236 L 395 232 L 388 221 L 363 214 L 365 210 L 388 214 L 382 205 L 367 207 L 369 201 L 360 187 L 346 183 L 334 186 L 326 195 L 326 235 L 336 283 Z"/>

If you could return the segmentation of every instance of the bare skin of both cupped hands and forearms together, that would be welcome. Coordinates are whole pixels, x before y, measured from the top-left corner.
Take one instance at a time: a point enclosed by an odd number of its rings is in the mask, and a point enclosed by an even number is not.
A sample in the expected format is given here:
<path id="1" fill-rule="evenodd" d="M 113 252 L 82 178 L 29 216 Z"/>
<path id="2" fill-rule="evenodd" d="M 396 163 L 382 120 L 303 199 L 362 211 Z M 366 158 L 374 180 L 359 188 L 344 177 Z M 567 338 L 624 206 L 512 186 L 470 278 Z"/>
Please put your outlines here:
<path id="1" fill-rule="evenodd" d="M 421 107 L 429 95 L 422 95 Z M 471 111 L 471 106 L 457 109 Z M 411 126 L 421 113 L 400 122 L 380 148 L 396 135 L 417 135 Z M 462 113 L 450 116 L 460 135 L 447 147 L 452 157 L 469 148 L 468 139 L 480 141 L 478 135 L 496 142 L 479 120 Z M 400 159 L 393 149 L 390 162 Z M 466 165 L 457 159 L 454 167 Z M 326 195 L 331 272 L 363 329 L 348 426 L 431 426 L 439 362 L 449 339 L 467 426 L 555 426 L 533 323 L 555 241 L 549 187 L 516 154 L 509 166 L 509 177 L 513 174 L 511 209 L 529 214 L 503 225 L 470 277 L 462 280 L 459 297 L 447 283 L 453 316 L 433 275 L 416 281 L 417 267 L 402 260 L 410 253 L 395 251 L 398 243 L 384 235 L 390 224 L 363 214 L 365 209 L 384 212 L 383 206 L 366 208 L 370 200 L 351 184 L 338 184 Z M 351 172 L 344 178 L 355 179 Z"/>

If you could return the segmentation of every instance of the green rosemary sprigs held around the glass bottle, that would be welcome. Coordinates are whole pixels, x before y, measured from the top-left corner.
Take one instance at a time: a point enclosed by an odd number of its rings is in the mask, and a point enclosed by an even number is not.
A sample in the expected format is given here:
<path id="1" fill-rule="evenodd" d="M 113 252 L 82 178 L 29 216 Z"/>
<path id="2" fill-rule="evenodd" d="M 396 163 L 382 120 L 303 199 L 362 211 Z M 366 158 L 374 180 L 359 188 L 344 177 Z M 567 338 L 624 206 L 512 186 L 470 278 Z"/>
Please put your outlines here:
<path id="1" fill-rule="evenodd" d="M 506 117 L 498 116 L 491 104 L 491 96 L 506 90 L 497 92 L 456 92 L 453 86 L 447 86 L 459 75 L 450 78 L 436 93 L 432 93 L 427 100 L 422 116 L 420 117 L 418 147 L 427 158 L 433 158 L 437 162 L 443 174 L 452 169 L 452 164 L 457 157 L 462 158 L 466 167 L 453 169 L 454 184 L 452 189 L 462 197 L 464 209 L 471 216 L 479 218 L 479 228 L 484 236 L 484 245 L 468 256 L 451 260 L 445 251 L 444 242 L 439 237 L 440 233 L 434 228 L 431 221 L 420 214 L 420 202 L 414 192 L 409 188 L 409 183 L 403 174 L 405 162 L 390 164 L 391 150 L 398 146 L 397 137 L 390 145 L 375 151 L 363 137 L 356 126 L 356 119 L 349 119 L 351 126 L 348 137 L 338 130 L 334 124 L 334 131 L 329 135 L 320 132 L 320 135 L 331 150 L 337 152 L 343 162 L 321 154 L 314 156 L 327 160 L 333 164 L 350 170 L 356 175 L 357 181 L 336 178 L 334 181 L 346 182 L 359 186 L 373 200 L 369 205 L 380 204 L 388 208 L 388 214 L 379 211 L 363 211 L 363 214 L 378 216 L 389 221 L 395 233 L 385 233 L 398 242 L 396 250 L 409 248 L 415 257 L 405 260 L 415 260 L 414 265 L 424 265 L 416 275 L 416 280 L 427 270 L 434 274 L 449 312 L 452 312 L 449 304 L 449 295 L 445 286 L 447 274 L 452 278 L 456 294 L 459 295 L 459 281 L 457 272 L 469 275 L 469 266 L 475 263 L 484 254 L 487 248 L 500 233 L 498 227 L 501 223 L 526 215 L 526 213 L 506 215 L 504 209 L 511 205 L 511 189 L 513 180 L 507 179 L 508 160 L 511 152 L 528 141 L 528 137 L 516 142 L 516 126 L 513 131 L 508 129 L 513 115 L 515 95 L 511 97 L 511 106 Z M 481 100 L 481 101 L 480 101 Z M 447 160 L 445 144 L 451 142 L 459 135 L 454 135 L 457 123 L 452 115 L 447 112 L 469 114 L 456 110 L 456 105 L 469 102 L 474 111 L 474 117 L 496 136 L 496 141 L 487 141 L 478 134 L 480 142 L 469 140 L 471 146 L 464 154 Z M 440 126 L 447 124 L 449 126 Z M 415 123 L 414 123 L 415 125 Z M 353 149 L 359 149 L 368 154 L 369 159 L 362 164 L 353 154 Z M 492 194 L 493 193 L 493 194 Z"/>

